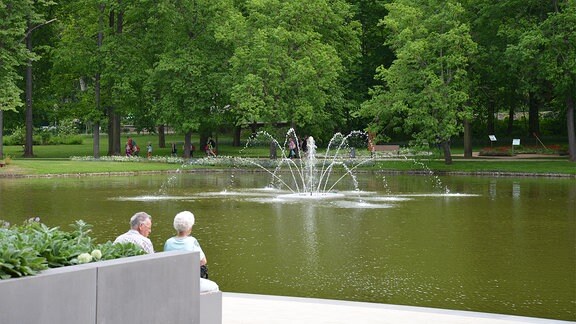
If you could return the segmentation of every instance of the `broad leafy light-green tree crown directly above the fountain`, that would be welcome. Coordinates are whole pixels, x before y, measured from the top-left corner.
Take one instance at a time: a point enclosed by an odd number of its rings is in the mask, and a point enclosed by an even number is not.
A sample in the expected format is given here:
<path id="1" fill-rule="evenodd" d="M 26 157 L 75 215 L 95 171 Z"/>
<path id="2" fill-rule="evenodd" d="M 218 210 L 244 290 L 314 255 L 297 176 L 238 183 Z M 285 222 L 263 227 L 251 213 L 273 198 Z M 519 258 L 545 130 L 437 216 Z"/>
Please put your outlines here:
<path id="1" fill-rule="evenodd" d="M 227 39 L 237 125 L 288 122 L 332 132 L 344 119 L 344 76 L 360 25 L 344 1 L 248 1 Z M 321 126 L 320 126 L 321 125 Z"/>

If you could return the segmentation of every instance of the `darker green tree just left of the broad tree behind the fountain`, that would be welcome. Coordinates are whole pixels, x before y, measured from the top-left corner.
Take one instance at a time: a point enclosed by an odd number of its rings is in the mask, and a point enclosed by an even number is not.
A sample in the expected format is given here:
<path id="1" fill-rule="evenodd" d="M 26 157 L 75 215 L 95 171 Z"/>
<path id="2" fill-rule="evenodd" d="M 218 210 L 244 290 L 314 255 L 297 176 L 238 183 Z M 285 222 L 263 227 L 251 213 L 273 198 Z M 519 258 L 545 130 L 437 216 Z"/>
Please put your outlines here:
<path id="1" fill-rule="evenodd" d="M 184 156 L 189 157 L 192 132 L 217 129 L 215 121 L 229 106 L 222 80 L 231 50 L 217 34 L 237 12 L 232 1 L 165 1 L 161 7 L 151 28 L 162 51 L 145 93 L 159 124 L 185 134 Z"/>

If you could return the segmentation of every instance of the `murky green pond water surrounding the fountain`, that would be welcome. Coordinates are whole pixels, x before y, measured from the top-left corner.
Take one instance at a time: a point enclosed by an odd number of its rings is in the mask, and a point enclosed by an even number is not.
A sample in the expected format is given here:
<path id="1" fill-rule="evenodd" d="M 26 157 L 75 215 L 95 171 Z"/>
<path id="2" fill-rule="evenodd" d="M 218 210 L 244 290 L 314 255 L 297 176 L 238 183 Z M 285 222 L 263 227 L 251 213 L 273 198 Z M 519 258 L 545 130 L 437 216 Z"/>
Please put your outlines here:
<path id="1" fill-rule="evenodd" d="M 576 320 L 573 179 L 356 181 L 359 190 L 303 199 L 252 172 L 0 179 L 0 219 L 64 229 L 83 219 L 104 242 L 146 211 L 161 251 L 174 215 L 190 210 L 223 291 Z"/>

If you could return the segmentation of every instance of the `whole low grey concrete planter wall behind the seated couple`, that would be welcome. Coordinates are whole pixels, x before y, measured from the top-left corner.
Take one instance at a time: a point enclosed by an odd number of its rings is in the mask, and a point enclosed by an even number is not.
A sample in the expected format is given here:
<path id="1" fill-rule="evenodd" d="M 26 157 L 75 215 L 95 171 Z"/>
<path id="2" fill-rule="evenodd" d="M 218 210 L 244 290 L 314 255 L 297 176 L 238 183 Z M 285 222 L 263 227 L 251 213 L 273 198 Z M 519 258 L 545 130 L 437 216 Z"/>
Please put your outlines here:
<path id="1" fill-rule="evenodd" d="M 0 280 L 0 324 L 200 323 L 199 262 L 164 252 Z"/>

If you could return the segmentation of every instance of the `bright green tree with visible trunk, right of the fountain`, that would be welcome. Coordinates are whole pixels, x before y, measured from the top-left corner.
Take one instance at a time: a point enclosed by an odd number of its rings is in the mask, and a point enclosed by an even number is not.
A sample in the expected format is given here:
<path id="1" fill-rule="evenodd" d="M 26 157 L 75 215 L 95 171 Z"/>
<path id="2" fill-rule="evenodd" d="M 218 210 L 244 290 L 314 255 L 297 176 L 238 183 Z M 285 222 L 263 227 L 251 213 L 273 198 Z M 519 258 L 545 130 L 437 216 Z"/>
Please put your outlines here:
<path id="1" fill-rule="evenodd" d="M 476 51 L 464 9 L 456 1 L 397 0 L 387 5 L 383 20 L 387 43 L 396 54 L 390 67 L 380 67 L 362 114 L 374 118 L 371 128 L 389 125 L 412 134 L 413 144 L 441 144 L 452 163 L 450 139 L 470 119 L 467 68 Z"/>

